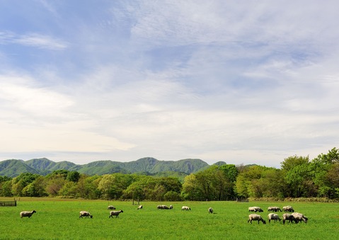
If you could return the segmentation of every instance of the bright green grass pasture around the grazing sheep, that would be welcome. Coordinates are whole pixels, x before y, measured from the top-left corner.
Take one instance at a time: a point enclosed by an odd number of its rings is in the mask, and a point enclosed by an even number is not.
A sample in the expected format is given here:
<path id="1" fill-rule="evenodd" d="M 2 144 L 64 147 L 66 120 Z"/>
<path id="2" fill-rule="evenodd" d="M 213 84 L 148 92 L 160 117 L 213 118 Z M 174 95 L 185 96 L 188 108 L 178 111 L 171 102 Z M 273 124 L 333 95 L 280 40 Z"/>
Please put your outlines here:
<path id="1" fill-rule="evenodd" d="M 142 210 L 132 202 L 103 200 L 21 198 L 17 203 L 0 207 L 0 239 L 339 239 L 338 203 L 141 202 Z M 173 210 L 157 210 L 160 204 L 173 205 Z M 108 205 L 124 212 L 108 218 Z M 183 205 L 192 210 L 181 211 Z M 309 222 L 247 223 L 248 207 L 262 207 L 260 215 L 268 220 L 269 206 L 285 205 L 309 217 Z M 37 213 L 21 219 L 23 210 Z M 91 212 L 93 219 L 79 219 L 81 210 Z"/>

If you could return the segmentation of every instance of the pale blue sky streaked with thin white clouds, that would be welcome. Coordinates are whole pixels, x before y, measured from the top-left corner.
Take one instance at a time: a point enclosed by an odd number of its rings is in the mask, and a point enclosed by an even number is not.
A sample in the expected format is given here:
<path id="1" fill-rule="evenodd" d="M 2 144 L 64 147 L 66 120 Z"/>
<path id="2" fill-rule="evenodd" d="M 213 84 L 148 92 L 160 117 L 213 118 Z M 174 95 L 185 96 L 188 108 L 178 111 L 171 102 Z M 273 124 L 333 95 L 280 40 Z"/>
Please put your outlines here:
<path id="1" fill-rule="evenodd" d="M 280 167 L 339 142 L 338 1 L 0 1 L 0 161 Z"/>

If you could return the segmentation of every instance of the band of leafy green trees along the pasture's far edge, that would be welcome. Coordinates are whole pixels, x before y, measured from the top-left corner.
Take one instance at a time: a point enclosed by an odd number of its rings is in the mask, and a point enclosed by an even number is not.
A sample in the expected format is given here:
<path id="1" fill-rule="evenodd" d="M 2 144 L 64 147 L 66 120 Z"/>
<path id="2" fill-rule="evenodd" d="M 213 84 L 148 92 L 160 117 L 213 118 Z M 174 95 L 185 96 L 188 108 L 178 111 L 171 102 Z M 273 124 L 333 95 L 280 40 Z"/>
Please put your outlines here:
<path id="1" fill-rule="evenodd" d="M 57 197 L 105 200 L 235 200 L 236 198 L 339 198 L 339 151 L 315 159 L 289 156 L 280 168 L 212 165 L 180 179 L 112 173 L 88 176 L 57 170 L 41 176 L 0 176 L 1 197 Z"/>

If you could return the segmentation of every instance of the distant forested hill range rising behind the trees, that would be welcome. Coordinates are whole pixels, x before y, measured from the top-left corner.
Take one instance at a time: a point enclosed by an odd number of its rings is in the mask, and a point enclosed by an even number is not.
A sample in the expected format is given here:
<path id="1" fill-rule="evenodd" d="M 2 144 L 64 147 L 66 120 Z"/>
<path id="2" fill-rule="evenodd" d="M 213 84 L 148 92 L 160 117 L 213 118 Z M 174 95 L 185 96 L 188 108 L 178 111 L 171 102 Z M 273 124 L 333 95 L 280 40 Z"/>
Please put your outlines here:
<path id="1" fill-rule="evenodd" d="M 0 176 L 15 177 L 21 173 L 36 173 L 47 175 L 56 170 L 78 171 L 88 175 L 103 175 L 109 173 L 161 173 L 166 171 L 180 173 L 195 173 L 209 165 L 201 159 L 183 159 L 179 161 L 159 161 L 146 157 L 137 161 L 93 161 L 78 165 L 70 161 L 54 162 L 49 159 L 30 159 L 28 161 L 9 159 L 0 161 Z"/>

